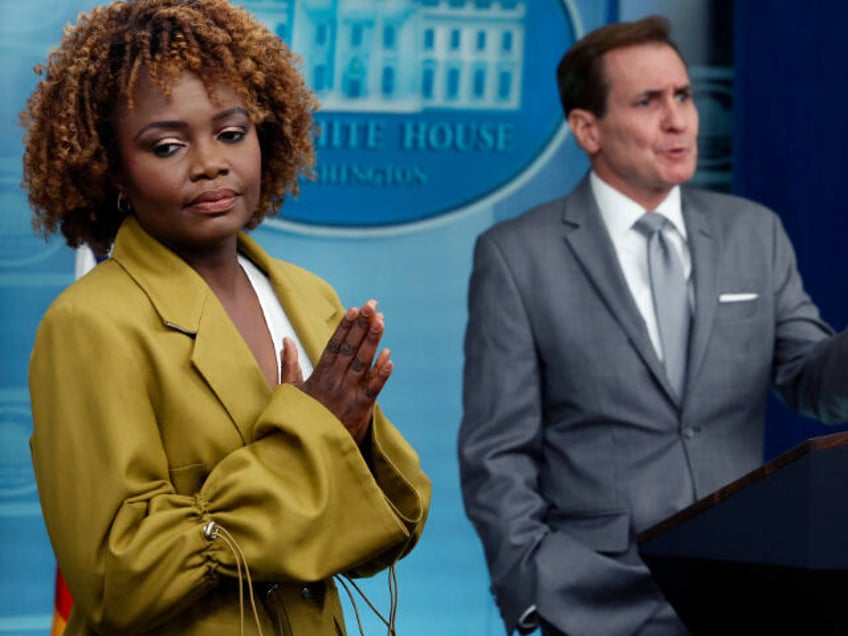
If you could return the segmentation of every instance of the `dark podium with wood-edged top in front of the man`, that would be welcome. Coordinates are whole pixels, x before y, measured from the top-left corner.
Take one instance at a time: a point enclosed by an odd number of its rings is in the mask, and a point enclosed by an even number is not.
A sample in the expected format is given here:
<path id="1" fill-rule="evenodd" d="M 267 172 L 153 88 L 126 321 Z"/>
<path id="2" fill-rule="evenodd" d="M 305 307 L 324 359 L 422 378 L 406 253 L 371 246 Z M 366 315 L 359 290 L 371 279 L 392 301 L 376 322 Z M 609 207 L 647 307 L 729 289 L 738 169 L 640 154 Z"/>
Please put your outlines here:
<path id="1" fill-rule="evenodd" d="M 848 635 L 848 432 L 807 440 L 638 541 L 695 636 Z"/>

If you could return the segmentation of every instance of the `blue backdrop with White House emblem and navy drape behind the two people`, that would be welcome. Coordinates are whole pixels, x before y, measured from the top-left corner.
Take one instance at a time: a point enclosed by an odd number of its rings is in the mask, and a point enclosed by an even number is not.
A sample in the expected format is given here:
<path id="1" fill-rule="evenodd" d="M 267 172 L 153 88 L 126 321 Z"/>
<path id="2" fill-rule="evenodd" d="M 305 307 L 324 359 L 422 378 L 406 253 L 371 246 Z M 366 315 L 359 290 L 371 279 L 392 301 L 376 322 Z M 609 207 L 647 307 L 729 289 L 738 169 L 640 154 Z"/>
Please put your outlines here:
<path id="1" fill-rule="evenodd" d="M 0 0 L 0 634 L 49 630 L 55 564 L 29 461 L 26 369 L 38 320 L 74 268 L 60 241 L 31 233 L 18 185 L 17 113 L 35 84 L 32 67 L 93 4 Z M 586 169 L 554 83 L 576 37 L 618 17 L 669 15 L 702 117 L 696 181 L 781 214 L 808 289 L 825 318 L 845 324 L 838 210 L 846 185 L 836 171 L 846 126 L 839 72 L 848 57 L 837 0 L 815 11 L 800 0 L 769 3 L 769 15 L 755 8 L 761 3 L 740 3 L 735 16 L 730 1 L 408 0 L 393 3 L 408 9 L 406 19 L 402 11 L 375 14 L 380 28 L 361 29 L 341 15 L 316 22 L 309 0 L 243 4 L 303 55 L 327 131 L 318 181 L 255 237 L 329 280 L 345 303 L 380 300 L 396 365 L 381 402 L 433 479 L 428 527 L 398 571 L 404 636 L 503 633 L 459 495 L 465 295 L 476 236 L 566 193 Z M 350 3 L 329 4 L 343 13 Z M 485 9 L 460 19 L 450 10 L 461 4 Z M 820 432 L 778 405 L 772 418 L 779 426 L 769 427 L 767 453 Z M 366 588 L 387 608 L 384 576 Z M 382 633 L 364 615 L 367 633 Z"/>

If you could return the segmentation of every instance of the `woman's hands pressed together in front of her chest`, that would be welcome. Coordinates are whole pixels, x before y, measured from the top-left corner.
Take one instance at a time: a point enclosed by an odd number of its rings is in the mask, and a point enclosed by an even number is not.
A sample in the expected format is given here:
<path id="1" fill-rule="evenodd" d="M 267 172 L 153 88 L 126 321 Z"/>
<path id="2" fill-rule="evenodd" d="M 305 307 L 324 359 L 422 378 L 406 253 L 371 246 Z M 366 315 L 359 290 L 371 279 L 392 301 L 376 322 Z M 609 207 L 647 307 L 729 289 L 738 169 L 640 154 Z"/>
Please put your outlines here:
<path id="1" fill-rule="evenodd" d="M 377 301 L 348 309 L 306 381 L 297 347 L 289 338 L 283 340 L 281 384 L 293 384 L 321 402 L 341 420 L 357 444 L 365 438 L 374 402 L 392 374 L 388 349 L 374 361 L 384 329 Z"/>

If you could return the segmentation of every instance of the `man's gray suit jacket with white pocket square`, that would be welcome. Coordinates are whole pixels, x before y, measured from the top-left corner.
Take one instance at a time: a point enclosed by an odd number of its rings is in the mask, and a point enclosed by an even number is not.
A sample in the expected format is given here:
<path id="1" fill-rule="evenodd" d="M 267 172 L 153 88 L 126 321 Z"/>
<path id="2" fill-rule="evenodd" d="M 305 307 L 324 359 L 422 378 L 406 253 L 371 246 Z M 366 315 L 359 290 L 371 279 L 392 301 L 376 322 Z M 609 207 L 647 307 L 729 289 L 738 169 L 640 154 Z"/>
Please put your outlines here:
<path id="1" fill-rule="evenodd" d="M 762 462 L 770 386 L 848 418 L 848 336 L 820 320 L 778 218 L 686 188 L 682 205 L 695 310 L 679 403 L 588 178 L 478 238 L 459 458 L 510 633 L 533 604 L 577 636 L 649 621 L 664 600 L 637 533 Z"/>

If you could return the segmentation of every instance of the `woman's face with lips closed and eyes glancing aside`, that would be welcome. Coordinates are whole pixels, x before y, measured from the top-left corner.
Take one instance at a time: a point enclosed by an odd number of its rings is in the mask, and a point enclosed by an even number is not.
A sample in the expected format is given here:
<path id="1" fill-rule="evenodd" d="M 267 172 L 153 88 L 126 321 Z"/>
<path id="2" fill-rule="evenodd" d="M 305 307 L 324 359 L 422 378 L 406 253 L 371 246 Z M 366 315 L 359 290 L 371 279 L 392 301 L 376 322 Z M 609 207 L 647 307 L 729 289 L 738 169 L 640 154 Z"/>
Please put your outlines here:
<path id="1" fill-rule="evenodd" d="M 184 258 L 233 246 L 259 201 L 256 127 L 232 88 L 213 97 L 188 71 L 169 96 L 142 77 L 117 118 L 115 183 L 141 226 Z"/>

